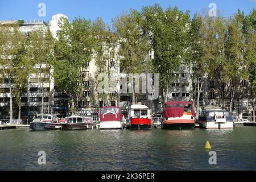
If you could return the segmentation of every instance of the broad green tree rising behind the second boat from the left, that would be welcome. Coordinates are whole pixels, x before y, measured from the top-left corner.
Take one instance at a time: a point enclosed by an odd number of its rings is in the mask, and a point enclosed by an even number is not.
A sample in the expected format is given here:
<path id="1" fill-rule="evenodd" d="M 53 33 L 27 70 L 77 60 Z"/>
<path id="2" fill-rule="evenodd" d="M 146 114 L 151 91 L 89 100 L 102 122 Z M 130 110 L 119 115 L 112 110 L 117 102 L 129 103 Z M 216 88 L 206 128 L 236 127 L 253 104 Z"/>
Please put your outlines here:
<path id="1" fill-rule="evenodd" d="M 55 85 L 69 96 L 69 107 L 72 104 L 72 111 L 75 111 L 74 98 L 78 99 L 81 94 L 83 73 L 92 59 L 96 41 L 92 24 L 85 18 L 75 18 L 72 23 L 61 18 L 59 27 L 61 31 L 55 45 Z"/>

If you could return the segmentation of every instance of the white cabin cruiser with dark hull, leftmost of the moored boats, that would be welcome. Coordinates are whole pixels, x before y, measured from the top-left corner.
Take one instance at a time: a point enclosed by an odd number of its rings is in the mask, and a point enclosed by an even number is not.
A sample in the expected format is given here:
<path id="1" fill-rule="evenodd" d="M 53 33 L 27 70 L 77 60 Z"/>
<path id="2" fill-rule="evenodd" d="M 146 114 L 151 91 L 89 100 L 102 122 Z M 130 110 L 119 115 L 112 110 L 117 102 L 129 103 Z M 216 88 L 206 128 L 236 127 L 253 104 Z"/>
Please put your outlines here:
<path id="1" fill-rule="evenodd" d="M 34 120 L 30 123 L 30 129 L 33 131 L 59 129 L 61 123 L 58 120 L 59 118 L 56 115 L 38 114 L 34 116 Z"/>

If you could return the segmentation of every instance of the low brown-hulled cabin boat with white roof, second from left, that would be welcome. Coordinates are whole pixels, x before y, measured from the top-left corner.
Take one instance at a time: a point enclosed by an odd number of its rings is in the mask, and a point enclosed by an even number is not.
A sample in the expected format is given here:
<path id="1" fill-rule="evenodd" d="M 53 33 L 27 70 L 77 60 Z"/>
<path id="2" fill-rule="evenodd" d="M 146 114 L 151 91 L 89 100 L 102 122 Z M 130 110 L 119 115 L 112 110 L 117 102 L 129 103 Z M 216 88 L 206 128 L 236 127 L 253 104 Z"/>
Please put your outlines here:
<path id="1" fill-rule="evenodd" d="M 63 130 L 86 130 L 96 127 L 96 123 L 91 117 L 72 115 L 65 118 L 65 123 L 61 124 Z"/>

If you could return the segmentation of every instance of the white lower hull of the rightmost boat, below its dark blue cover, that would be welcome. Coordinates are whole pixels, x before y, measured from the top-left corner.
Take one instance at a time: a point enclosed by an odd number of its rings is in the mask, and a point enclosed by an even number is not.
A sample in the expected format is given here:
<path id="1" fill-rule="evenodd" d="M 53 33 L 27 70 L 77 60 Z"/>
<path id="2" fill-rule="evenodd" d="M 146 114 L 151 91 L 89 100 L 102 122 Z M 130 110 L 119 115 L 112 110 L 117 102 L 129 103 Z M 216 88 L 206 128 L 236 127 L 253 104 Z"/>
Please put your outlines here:
<path id="1" fill-rule="evenodd" d="M 225 123 L 215 122 L 215 121 L 204 121 L 199 122 L 200 128 L 203 129 L 233 129 L 234 122 L 233 121 L 226 121 Z"/>

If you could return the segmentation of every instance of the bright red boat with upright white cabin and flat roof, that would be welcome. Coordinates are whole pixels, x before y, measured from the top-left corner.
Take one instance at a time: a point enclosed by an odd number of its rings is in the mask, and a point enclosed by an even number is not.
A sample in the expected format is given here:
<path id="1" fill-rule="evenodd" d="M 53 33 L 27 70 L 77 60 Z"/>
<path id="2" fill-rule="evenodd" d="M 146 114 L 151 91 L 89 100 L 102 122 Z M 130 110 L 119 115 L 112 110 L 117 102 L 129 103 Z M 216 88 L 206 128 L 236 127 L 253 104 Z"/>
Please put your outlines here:
<path id="1" fill-rule="evenodd" d="M 130 129 L 152 129 L 151 110 L 146 105 L 133 104 L 129 107 Z"/>

